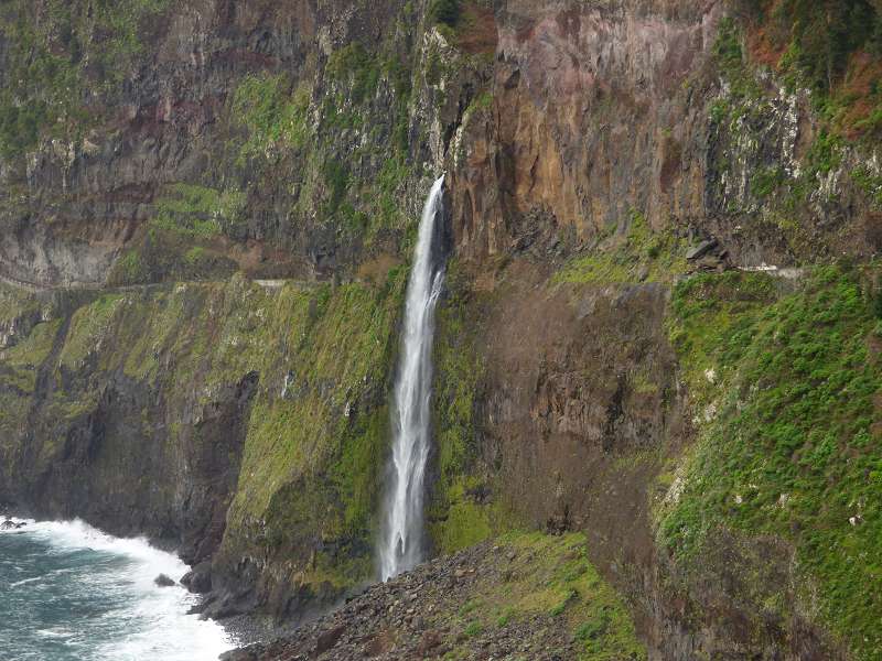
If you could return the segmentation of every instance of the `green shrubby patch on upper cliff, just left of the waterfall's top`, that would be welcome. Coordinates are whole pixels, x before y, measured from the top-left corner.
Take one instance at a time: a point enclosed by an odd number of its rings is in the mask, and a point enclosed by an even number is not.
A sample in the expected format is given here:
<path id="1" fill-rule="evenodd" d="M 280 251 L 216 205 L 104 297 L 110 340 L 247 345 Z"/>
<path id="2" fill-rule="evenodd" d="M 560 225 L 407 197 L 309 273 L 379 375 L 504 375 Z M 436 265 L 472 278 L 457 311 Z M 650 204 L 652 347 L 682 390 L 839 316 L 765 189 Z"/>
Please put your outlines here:
<path id="1" fill-rule="evenodd" d="M 320 221 L 370 245 L 384 230 L 402 231 L 412 221 L 400 204 L 400 186 L 415 174 L 408 164 L 410 66 L 395 44 L 373 53 L 354 41 L 331 54 L 324 75 L 333 84 L 315 99 L 303 85 L 292 93 L 283 75 L 246 78 L 230 106 L 246 139 L 241 145 L 234 140 L 230 150 L 237 166 L 256 166 L 271 185 L 283 163 L 294 169 L 294 223 L 318 210 Z M 391 108 L 378 93 L 388 88 Z M 369 140 L 342 149 L 341 136 L 351 131 Z M 367 172 L 376 177 L 366 178 Z"/>

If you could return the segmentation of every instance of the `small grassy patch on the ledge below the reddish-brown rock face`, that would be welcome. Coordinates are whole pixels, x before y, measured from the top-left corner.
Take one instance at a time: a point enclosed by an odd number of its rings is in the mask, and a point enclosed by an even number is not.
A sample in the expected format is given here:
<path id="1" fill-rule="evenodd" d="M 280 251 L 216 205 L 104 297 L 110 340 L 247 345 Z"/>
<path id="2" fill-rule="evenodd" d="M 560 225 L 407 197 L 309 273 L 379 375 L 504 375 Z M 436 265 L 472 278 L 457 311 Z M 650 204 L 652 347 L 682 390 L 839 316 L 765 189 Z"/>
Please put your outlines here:
<path id="1" fill-rule="evenodd" d="M 589 254 L 572 259 L 555 274 L 552 282 L 669 282 L 686 272 L 686 246 L 669 230 L 654 232 L 643 214 L 632 210 L 625 237 L 609 237 Z"/>

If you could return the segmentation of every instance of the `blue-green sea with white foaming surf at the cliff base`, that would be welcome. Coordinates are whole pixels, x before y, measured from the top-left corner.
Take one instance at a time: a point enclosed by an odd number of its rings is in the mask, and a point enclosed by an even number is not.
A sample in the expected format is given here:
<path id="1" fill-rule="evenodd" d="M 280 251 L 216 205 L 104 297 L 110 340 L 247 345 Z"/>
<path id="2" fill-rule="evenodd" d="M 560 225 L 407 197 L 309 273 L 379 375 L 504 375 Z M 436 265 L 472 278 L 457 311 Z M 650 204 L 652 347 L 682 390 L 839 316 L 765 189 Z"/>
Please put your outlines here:
<path id="1" fill-rule="evenodd" d="M 82 521 L 0 531 L 0 660 L 208 661 L 235 640 L 186 615 L 195 597 L 158 587 L 187 567 L 141 539 Z"/>

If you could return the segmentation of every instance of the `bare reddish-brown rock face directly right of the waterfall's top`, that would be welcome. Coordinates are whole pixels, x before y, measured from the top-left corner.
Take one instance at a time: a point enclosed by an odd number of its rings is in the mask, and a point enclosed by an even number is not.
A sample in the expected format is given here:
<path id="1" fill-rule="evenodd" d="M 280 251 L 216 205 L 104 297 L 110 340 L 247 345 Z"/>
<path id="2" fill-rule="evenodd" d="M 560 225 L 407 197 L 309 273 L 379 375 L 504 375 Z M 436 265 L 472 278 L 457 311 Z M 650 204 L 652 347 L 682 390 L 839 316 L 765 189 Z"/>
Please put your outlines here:
<path id="1" fill-rule="evenodd" d="M 452 185 L 466 254 L 506 250 L 512 217 L 534 209 L 579 245 L 621 226 L 630 206 L 656 226 L 701 215 L 701 99 L 682 86 L 707 59 L 722 8 L 636 4 L 498 12 L 494 117 L 473 128 Z"/>

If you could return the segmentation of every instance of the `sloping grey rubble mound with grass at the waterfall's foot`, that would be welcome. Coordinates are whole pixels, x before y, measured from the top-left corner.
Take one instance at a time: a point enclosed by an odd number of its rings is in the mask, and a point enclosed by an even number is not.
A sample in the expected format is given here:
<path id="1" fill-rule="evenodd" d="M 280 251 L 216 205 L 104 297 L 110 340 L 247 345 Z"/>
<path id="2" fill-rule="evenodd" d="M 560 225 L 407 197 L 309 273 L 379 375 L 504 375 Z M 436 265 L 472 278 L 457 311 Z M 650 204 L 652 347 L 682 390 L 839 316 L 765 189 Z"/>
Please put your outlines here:
<path id="1" fill-rule="evenodd" d="M 601 649 L 611 659 L 645 659 L 636 639 L 622 639 L 621 622 L 611 626 L 617 604 L 582 563 L 583 550 L 573 534 L 483 543 L 373 585 L 273 642 L 220 659 L 564 661 Z"/>

